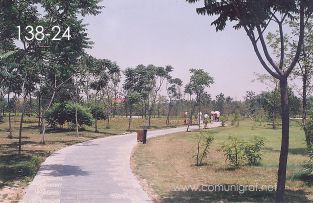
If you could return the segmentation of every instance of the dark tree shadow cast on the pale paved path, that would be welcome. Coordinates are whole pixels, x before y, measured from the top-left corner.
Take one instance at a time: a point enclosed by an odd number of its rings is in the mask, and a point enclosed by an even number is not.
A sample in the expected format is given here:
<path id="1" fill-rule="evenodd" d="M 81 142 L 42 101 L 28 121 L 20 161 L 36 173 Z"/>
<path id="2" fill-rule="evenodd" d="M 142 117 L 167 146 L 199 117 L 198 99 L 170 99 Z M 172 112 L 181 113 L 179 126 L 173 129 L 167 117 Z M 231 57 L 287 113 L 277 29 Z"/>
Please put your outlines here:
<path id="1" fill-rule="evenodd" d="M 51 164 L 43 165 L 39 170 L 45 176 L 88 176 L 87 171 L 83 171 L 79 166 Z"/>

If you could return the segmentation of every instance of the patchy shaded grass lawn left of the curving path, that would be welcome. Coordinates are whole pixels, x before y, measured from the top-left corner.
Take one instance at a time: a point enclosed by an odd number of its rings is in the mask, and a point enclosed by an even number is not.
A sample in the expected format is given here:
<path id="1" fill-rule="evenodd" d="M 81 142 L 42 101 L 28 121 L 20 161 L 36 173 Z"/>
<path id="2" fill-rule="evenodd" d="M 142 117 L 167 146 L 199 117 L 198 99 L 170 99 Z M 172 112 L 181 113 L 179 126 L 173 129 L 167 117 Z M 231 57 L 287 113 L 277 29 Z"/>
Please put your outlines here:
<path id="1" fill-rule="evenodd" d="M 112 118 L 109 127 L 106 121 L 98 121 L 99 133 L 93 127 L 86 127 L 77 137 L 74 131 L 58 129 L 48 130 L 46 144 L 41 145 L 41 135 L 35 117 L 25 117 L 23 129 L 22 154 L 18 156 L 19 117 L 13 117 L 13 139 L 8 139 L 8 122 L 0 123 L 0 202 L 16 202 L 23 194 L 23 189 L 36 174 L 39 165 L 51 153 L 66 146 L 91 139 L 125 133 L 128 128 L 127 118 Z M 164 128 L 165 118 L 153 118 L 152 129 Z M 171 126 L 182 125 L 183 119 L 173 118 Z M 133 119 L 132 129 L 142 128 L 145 119 Z"/>

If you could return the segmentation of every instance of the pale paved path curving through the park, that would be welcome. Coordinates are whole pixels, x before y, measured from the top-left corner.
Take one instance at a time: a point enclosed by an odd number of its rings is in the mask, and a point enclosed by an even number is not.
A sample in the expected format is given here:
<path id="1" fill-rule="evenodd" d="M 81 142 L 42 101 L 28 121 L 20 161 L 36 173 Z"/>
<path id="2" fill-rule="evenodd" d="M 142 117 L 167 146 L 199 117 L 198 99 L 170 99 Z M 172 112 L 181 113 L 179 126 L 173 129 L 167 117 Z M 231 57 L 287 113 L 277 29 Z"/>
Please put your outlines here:
<path id="1" fill-rule="evenodd" d="M 217 127 L 214 123 L 210 127 Z M 193 126 L 192 129 L 197 129 Z M 186 127 L 148 132 L 148 138 Z M 87 141 L 55 152 L 41 165 L 22 203 L 152 202 L 130 168 L 136 134 Z"/>

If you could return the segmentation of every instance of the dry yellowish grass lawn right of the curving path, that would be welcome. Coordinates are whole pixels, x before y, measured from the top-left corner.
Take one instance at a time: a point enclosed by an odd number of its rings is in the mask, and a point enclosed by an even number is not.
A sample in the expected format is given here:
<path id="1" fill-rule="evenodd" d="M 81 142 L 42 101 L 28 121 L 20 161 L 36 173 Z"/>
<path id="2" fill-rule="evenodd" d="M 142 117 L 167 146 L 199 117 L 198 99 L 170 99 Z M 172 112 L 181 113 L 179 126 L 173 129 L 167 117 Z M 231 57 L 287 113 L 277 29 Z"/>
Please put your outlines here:
<path id="1" fill-rule="evenodd" d="M 209 150 L 206 164 L 201 167 L 195 166 L 193 157 L 196 152 L 197 132 L 152 138 L 147 145 L 139 144 L 134 150 L 133 171 L 151 196 L 160 202 L 274 201 L 275 192 L 270 190 L 276 187 L 281 131 L 273 130 L 269 125 L 252 126 L 250 121 L 241 121 L 239 127 L 209 129 L 215 140 Z M 231 170 L 221 150 L 229 136 L 243 140 L 251 140 L 254 136 L 264 137 L 261 165 Z M 301 169 L 301 164 L 308 160 L 304 134 L 296 123 L 292 123 L 290 128 L 289 152 L 286 200 L 313 201 L 313 188 L 293 178 Z M 233 189 L 233 192 L 216 189 L 215 192 L 210 192 L 214 190 L 213 187 L 218 188 L 220 185 L 224 190 L 230 185 L 239 188 L 249 185 L 257 187 L 249 192 L 242 192 L 240 189 Z M 253 191 L 255 188 L 262 191 Z"/>

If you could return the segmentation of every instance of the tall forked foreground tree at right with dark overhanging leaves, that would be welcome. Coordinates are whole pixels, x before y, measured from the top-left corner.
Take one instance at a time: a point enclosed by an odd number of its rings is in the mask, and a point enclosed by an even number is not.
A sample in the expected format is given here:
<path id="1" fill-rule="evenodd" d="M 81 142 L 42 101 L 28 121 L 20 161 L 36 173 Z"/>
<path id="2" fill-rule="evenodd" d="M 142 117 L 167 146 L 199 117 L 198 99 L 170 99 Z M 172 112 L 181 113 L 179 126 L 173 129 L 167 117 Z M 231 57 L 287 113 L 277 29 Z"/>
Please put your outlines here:
<path id="1" fill-rule="evenodd" d="M 195 3 L 199 0 L 187 0 Z M 217 16 L 212 22 L 217 31 L 224 30 L 230 22 L 236 22 L 235 29 L 244 29 L 250 39 L 253 49 L 262 66 L 274 78 L 279 80 L 281 106 L 282 106 L 282 141 L 279 158 L 279 169 L 277 179 L 276 201 L 284 200 L 286 184 L 286 167 L 289 149 L 289 101 L 288 101 L 288 77 L 299 61 L 304 41 L 305 21 L 313 11 L 313 2 L 307 0 L 215 0 L 204 1 L 204 7 L 198 8 L 198 14 Z M 297 48 L 293 59 L 285 60 L 285 35 L 284 23 L 299 16 L 297 31 Z M 276 25 L 279 30 L 280 55 L 278 62 L 270 55 L 265 37 L 269 24 Z M 259 46 L 260 44 L 260 46 Z M 261 54 L 263 50 L 263 55 Z"/>

